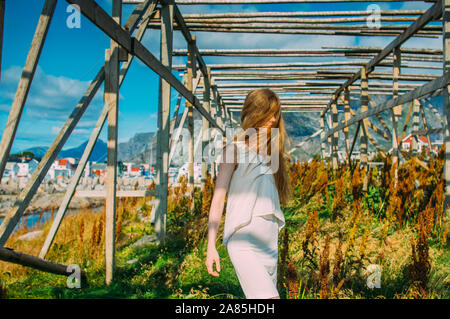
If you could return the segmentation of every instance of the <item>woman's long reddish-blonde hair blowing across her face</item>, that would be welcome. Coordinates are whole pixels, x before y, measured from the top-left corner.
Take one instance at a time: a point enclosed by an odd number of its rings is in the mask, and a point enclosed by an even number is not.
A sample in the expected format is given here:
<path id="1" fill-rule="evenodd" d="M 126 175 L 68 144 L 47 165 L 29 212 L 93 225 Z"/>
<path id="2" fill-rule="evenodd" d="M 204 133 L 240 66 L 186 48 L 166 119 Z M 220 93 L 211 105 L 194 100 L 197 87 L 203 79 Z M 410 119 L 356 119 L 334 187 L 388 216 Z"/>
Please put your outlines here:
<path id="1" fill-rule="evenodd" d="M 234 140 L 239 139 L 239 136 L 242 134 L 245 135 L 249 128 L 254 128 L 256 131 L 256 139 L 253 139 L 253 141 L 264 141 L 265 139 L 267 142 L 261 146 L 265 149 L 266 154 L 271 156 L 273 134 L 270 133 L 272 130 L 268 133 L 268 129 L 264 130 L 263 125 L 265 125 L 272 116 L 275 117 L 275 123 L 271 127 L 278 128 L 278 130 L 275 130 L 277 131 L 276 138 L 278 138 L 278 143 L 274 144 L 277 148 L 276 151 L 278 151 L 279 154 L 279 166 L 274 173 L 275 185 L 278 190 L 280 204 L 287 205 L 292 196 L 292 185 L 289 177 L 290 165 L 287 158 L 292 161 L 292 157 L 285 152 L 284 143 L 288 142 L 290 144 L 290 140 L 286 134 L 283 116 L 281 114 L 281 101 L 275 92 L 264 88 L 252 90 L 248 93 L 241 112 L 241 128 L 243 131 L 236 134 Z M 251 140 L 252 139 L 250 139 L 249 143 L 251 143 Z M 276 140 L 274 143 L 276 143 Z M 257 144 L 259 145 L 258 142 Z M 258 147 L 256 147 L 256 149 L 258 149 Z"/>

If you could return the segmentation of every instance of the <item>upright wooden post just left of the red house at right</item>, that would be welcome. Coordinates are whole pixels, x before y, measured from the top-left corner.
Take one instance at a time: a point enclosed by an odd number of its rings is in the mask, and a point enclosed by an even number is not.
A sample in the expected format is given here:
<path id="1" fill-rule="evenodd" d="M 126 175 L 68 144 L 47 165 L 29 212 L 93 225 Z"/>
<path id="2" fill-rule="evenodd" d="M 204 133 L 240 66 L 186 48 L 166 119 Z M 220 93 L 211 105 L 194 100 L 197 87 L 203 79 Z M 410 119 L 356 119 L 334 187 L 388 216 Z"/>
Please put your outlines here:
<path id="1" fill-rule="evenodd" d="M 401 71 L 401 54 L 400 47 L 396 47 L 393 52 L 394 68 L 392 73 L 393 81 L 393 98 L 398 97 L 398 78 Z M 398 164 L 399 164 L 399 150 L 398 150 L 398 121 L 402 115 L 402 105 L 397 105 L 390 110 L 392 120 L 392 166 L 395 165 L 394 170 L 394 185 L 398 181 Z"/>

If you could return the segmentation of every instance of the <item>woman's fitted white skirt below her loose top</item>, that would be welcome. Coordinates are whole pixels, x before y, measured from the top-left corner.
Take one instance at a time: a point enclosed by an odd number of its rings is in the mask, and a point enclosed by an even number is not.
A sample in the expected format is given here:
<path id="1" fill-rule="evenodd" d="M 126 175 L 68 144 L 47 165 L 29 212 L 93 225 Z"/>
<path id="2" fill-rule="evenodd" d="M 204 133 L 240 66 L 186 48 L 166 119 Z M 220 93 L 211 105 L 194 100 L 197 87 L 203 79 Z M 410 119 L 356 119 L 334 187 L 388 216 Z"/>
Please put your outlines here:
<path id="1" fill-rule="evenodd" d="M 247 299 L 278 297 L 278 221 L 271 215 L 252 216 L 227 243 L 239 283 Z"/>

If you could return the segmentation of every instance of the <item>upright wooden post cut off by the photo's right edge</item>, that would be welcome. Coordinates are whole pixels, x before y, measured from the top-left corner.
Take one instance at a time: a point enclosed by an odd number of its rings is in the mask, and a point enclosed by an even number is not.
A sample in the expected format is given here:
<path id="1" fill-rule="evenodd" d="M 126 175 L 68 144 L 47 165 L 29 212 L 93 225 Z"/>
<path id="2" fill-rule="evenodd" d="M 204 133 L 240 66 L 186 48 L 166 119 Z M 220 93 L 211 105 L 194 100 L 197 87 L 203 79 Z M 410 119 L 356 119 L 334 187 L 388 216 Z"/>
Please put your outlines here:
<path id="1" fill-rule="evenodd" d="M 443 73 L 450 72 L 450 0 L 442 0 L 442 23 L 443 23 Z M 444 147 L 445 147 L 445 163 L 444 163 L 444 181 L 445 181 L 445 201 L 444 209 L 446 216 L 450 214 L 450 87 L 446 86 L 444 92 Z M 448 217 L 447 217 L 448 218 Z"/>

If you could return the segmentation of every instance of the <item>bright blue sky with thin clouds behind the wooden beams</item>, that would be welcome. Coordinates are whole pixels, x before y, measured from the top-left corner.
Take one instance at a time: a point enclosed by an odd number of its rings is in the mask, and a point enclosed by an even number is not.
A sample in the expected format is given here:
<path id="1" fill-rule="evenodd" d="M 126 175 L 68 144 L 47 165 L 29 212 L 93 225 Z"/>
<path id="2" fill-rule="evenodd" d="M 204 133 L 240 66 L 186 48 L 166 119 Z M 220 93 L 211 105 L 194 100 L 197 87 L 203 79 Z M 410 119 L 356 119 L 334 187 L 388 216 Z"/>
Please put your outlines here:
<path id="1" fill-rule="evenodd" d="M 111 0 L 97 0 L 111 12 Z M 44 0 L 6 1 L 2 72 L 0 82 L 0 134 L 3 133 L 9 110 L 25 64 L 31 40 Z M 212 12 L 256 11 L 330 11 L 366 10 L 368 3 L 353 4 L 282 4 L 282 5 L 196 5 L 179 6 L 182 14 Z M 379 3 L 381 9 L 427 9 L 431 4 L 420 2 Z M 49 146 L 59 128 L 85 92 L 104 63 L 109 38 L 82 17 L 80 29 L 70 29 L 66 19 L 67 2 L 58 1 L 50 30 L 39 60 L 38 68 L 25 104 L 11 152 L 33 146 Z M 125 5 L 122 21 L 126 21 L 134 6 Z M 392 37 L 308 36 L 250 33 L 192 32 L 197 36 L 199 49 L 214 48 L 274 48 L 304 49 L 324 45 L 386 46 Z M 159 58 L 159 30 L 147 30 L 143 44 Z M 442 39 L 413 38 L 404 47 L 441 48 Z M 174 33 L 174 49 L 186 49 L 179 31 Z M 304 58 L 270 57 L 204 57 L 214 63 L 300 62 Z M 323 61 L 323 60 L 322 60 Z M 185 57 L 174 57 L 173 64 L 185 64 Z M 178 72 L 174 73 L 181 80 Z M 133 64 L 120 90 L 119 142 L 127 141 L 140 132 L 156 131 L 158 110 L 158 76 L 138 59 Z M 220 91 L 220 86 L 219 86 Z M 172 89 L 173 112 L 178 93 Z M 184 107 L 184 99 L 182 100 Z M 90 136 L 103 107 L 103 86 L 84 113 L 64 149 L 78 146 Z M 181 110 L 182 111 L 182 110 Z M 106 127 L 106 125 L 105 125 Z M 106 128 L 100 138 L 106 141 Z"/>

